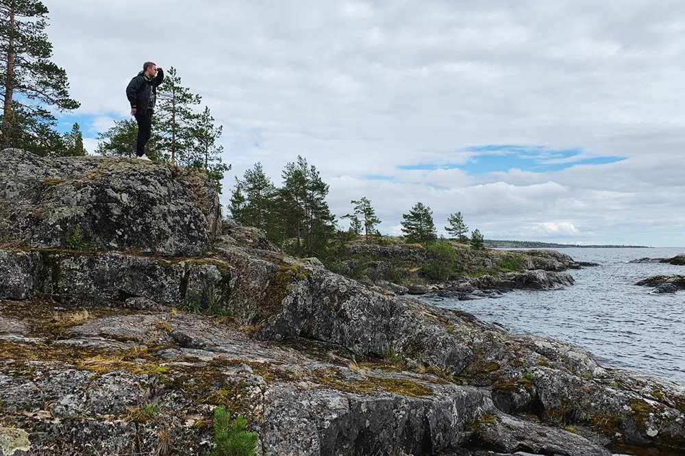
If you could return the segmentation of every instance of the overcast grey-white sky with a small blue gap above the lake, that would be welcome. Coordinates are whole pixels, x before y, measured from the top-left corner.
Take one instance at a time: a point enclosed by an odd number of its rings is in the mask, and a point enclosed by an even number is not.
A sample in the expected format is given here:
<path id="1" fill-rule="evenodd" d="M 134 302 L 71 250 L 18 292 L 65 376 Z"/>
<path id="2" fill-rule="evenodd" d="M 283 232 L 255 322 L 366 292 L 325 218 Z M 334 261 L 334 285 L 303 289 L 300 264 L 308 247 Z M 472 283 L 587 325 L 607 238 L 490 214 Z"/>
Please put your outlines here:
<path id="1" fill-rule="evenodd" d="M 384 233 L 421 201 L 491 239 L 685 246 L 682 1 L 43 1 L 90 150 L 153 60 L 223 125 L 226 188 L 300 154 Z"/>

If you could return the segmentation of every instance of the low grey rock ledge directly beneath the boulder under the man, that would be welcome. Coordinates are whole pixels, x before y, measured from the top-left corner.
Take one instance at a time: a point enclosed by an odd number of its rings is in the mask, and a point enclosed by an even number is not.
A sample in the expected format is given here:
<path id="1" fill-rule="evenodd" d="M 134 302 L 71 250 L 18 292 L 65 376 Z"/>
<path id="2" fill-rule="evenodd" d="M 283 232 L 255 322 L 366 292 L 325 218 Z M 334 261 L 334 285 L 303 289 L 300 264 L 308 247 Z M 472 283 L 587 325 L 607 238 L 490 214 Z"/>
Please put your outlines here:
<path id="1" fill-rule="evenodd" d="M 125 301 L 125 307 L 156 309 L 178 305 L 192 292 L 207 303 L 210 296 L 230 291 L 230 266 L 216 259 L 0 250 L 0 261 L 3 258 L 7 267 L 0 270 L 0 277 L 7 285 L 0 285 L 0 296 L 9 299 L 27 299 L 38 292 L 65 303 Z"/>

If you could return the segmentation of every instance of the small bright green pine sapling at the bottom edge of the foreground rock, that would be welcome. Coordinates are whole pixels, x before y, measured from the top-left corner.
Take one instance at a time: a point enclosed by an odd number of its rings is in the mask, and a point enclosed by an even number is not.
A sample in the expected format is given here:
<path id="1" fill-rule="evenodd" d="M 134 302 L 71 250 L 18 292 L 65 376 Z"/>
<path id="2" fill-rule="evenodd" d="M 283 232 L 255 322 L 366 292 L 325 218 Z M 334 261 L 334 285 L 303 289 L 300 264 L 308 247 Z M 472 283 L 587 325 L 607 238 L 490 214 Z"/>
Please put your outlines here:
<path id="1" fill-rule="evenodd" d="M 245 432 L 247 420 L 238 415 L 235 420 L 220 405 L 214 409 L 214 451 L 207 456 L 256 456 L 259 440 L 256 432 Z"/>

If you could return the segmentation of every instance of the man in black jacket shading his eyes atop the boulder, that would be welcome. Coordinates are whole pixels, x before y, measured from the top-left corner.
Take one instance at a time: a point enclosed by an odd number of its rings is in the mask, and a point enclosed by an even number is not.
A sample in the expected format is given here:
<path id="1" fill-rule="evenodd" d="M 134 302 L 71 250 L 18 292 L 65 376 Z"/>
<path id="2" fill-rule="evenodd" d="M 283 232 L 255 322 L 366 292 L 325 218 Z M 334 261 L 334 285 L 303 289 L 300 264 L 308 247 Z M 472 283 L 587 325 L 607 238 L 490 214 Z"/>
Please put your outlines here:
<path id="1" fill-rule="evenodd" d="M 138 145 L 136 155 L 140 160 L 150 160 L 145 155 L 145 143 L 152 135 L 152 113 L 157 101 L 157 86 L 162 84 L 164 71 L 153 62 L 145 62 L 138 76 L 131 79 L 126 97 L 131 103 L 131 114 L 138 122 Z"/>

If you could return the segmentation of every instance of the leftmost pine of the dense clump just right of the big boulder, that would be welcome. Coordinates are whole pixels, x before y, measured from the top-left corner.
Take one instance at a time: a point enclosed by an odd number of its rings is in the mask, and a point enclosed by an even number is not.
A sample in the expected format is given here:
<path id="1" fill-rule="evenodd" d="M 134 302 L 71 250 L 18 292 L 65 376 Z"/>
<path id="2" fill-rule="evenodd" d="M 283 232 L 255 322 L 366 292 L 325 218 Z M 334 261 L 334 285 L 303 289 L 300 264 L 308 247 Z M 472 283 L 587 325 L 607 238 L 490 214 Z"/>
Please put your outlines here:
<path id="1" fill-rule="evenodd" d="M 234 220 L 271 233 L 276 188 L 264 174 L 261 163 L 246 170 L 242 179 L 236 177 L 230 210 Z M 235 210 L 235 212 L 234 212 Z"/>

